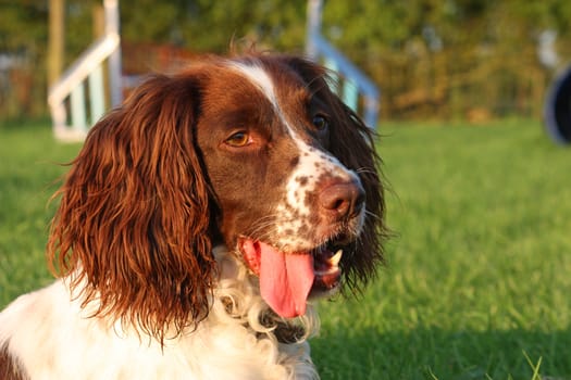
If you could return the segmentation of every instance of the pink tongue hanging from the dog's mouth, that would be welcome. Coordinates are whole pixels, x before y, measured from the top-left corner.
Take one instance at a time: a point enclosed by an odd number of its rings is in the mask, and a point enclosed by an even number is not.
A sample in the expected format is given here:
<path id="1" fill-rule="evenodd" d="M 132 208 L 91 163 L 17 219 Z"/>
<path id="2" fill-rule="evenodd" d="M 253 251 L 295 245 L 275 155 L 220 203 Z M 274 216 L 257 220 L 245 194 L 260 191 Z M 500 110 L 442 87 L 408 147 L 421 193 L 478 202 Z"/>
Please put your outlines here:
<path id="1" fill-rule="evenodd" d="M 303 315 L 315 277 L 313 256 L 307 253 L 285 254 L 271 245 L 259 244 L 262 297 L 284 318 Z"/>

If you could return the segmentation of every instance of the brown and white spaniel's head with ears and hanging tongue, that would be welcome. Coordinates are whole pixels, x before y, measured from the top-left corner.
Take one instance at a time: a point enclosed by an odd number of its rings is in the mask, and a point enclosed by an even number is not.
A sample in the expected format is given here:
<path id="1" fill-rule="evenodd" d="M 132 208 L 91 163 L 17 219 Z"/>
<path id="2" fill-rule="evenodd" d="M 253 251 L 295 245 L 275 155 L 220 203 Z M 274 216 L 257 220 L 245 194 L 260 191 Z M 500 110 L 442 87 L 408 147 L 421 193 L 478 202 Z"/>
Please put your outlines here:
<path id="1" fill-rule="evenodd" d="M 149 78 L 91 128 L 59 192 L 48 252 L 60 275 L 100 315 L 160 338 L 208 314 L 218 243 L 283 317 L 364 284 L 382 261 L 378 157 L 328 80 L 288 55 Z"/>

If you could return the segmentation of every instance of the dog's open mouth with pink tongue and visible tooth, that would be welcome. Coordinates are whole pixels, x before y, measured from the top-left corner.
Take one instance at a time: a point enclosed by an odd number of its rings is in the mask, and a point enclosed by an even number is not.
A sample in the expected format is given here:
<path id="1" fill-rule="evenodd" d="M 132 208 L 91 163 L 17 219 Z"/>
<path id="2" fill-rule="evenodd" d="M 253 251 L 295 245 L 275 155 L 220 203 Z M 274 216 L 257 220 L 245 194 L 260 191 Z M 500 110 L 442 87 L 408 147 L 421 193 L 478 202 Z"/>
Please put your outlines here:
<path id="1" fill-rule="evenodd" d="M 240 238 L 238 248 L 250 270 L 260 278 L 262 297 L 284 318 L 303 315 L 310 295 L 330 294 L 340 283 L 343 250 L 333 242 L 286 253 L 262 241 Z"/>

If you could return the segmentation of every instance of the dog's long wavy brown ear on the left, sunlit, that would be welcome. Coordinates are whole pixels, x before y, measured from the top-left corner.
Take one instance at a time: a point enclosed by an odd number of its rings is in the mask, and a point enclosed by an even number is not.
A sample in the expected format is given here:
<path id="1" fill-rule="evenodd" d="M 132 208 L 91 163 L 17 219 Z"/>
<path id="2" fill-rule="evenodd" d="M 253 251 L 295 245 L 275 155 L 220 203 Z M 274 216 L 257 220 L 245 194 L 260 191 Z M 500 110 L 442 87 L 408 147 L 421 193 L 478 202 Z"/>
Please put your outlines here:
<path id="1" fill-rule="evenodd" d="M 200 81 L 153 76 L 102 118 L 59 192 L 48 258 L 97 316 L 161 343 L 208 314 L 215 273 L 195 147 Z M 189 322 L 190 321 L 190 322 Z"/>

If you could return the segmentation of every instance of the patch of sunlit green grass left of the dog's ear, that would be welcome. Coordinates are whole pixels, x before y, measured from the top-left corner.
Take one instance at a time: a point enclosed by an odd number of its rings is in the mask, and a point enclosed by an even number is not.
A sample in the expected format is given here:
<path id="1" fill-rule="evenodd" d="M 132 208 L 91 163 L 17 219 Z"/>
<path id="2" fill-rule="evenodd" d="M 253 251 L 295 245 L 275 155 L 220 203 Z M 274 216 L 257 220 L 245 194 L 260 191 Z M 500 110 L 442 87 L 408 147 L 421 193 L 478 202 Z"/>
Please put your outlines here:
<path id="1" fill-rule="evenodd" d="M 60 164 L 78 145 L 53 141 L 47 122 L 0 125 L 0 307 L 50 281 L 45 245 Z"/>

